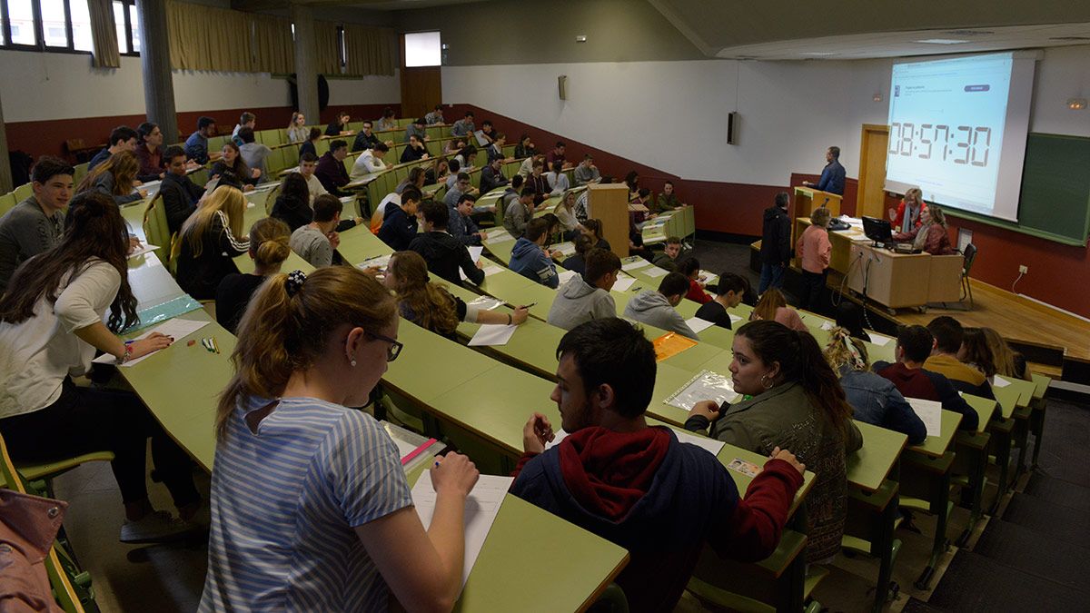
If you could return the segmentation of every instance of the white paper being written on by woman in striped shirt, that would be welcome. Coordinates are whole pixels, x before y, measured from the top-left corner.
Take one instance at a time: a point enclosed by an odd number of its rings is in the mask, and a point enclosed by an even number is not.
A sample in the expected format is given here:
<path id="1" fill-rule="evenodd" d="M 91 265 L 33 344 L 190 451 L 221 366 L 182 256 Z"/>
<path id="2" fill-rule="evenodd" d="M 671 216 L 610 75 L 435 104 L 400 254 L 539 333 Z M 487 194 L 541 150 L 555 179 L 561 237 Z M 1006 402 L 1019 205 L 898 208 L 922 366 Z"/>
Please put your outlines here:
<path id="1" fill-rule="evenodd" d="M 481 548 L 484 546 L 488 531 L 496 520 L 499 507 L 510 489 L 511 477 L 496 477 L 494 474 L 482 474 L 477 479 L 476 485 L 465 498 L 464 533 L 465 533 L 465 556 L 462 567 L 462 585 L 470 577 L 473 564 L 481 555 Z M 432 485 L 431 474 L 421 474 L 416 484 L 412 489 L 412 502 L 420 515 L 420 521 L 426 530 L 432 525 L 432 517 L 435 515 L 435 488 Z"/>

